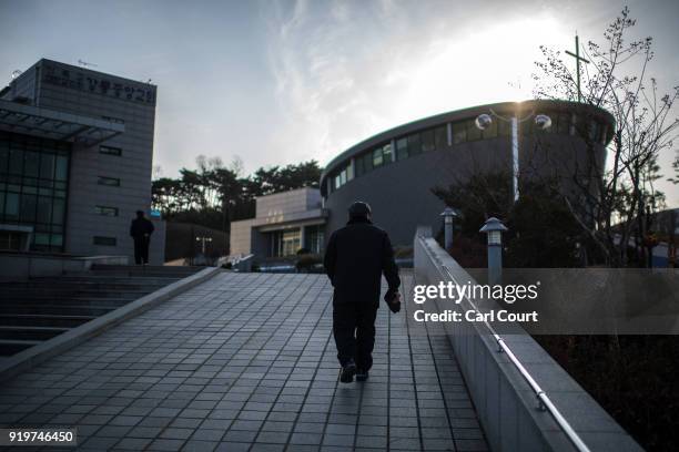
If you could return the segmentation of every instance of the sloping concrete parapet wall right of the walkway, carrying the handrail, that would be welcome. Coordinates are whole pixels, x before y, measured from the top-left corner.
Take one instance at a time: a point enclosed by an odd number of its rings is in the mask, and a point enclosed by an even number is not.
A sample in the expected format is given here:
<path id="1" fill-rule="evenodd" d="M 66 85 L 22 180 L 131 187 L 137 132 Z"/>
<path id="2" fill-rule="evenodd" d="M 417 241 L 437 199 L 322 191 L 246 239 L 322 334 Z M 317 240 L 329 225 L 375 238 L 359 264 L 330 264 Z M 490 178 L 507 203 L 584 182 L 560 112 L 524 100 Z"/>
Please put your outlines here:
<path id="1" fill-rule="evenodd" d="M 415 237 L 416 284 L 474 284 L 427 229 Z M 438 311 L 487 311 L 494 306 L 486 301 L 427 302 Z M 642 450 L 529 335 L 513 327 L 516 333 L 499 336 L 484 322 L 444 326 L 491 450 Z"/>

